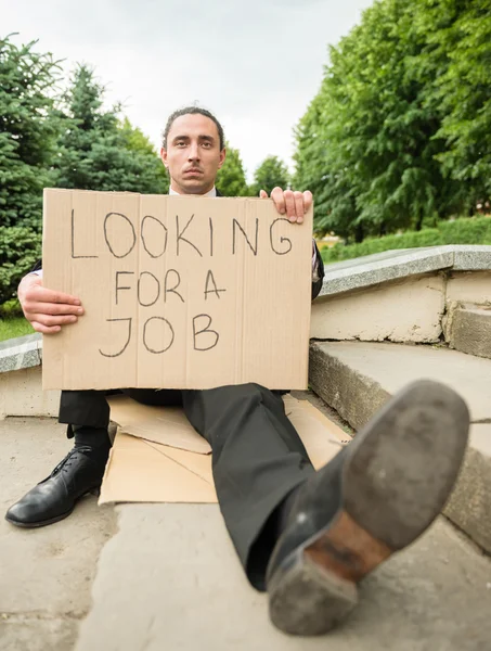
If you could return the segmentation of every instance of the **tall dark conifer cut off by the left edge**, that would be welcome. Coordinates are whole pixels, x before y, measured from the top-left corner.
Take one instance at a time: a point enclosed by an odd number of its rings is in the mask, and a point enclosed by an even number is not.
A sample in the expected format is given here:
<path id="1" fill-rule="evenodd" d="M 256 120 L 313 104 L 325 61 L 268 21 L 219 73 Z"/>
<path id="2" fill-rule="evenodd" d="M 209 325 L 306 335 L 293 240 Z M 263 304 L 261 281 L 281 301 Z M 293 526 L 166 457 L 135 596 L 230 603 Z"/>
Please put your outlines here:
<path id="1" fill-rule="evenodd" d="M 51 54 L 0 39 L 0 226 L 41 228 L 42 188 L 50 184 L 56 122 Z"/>

